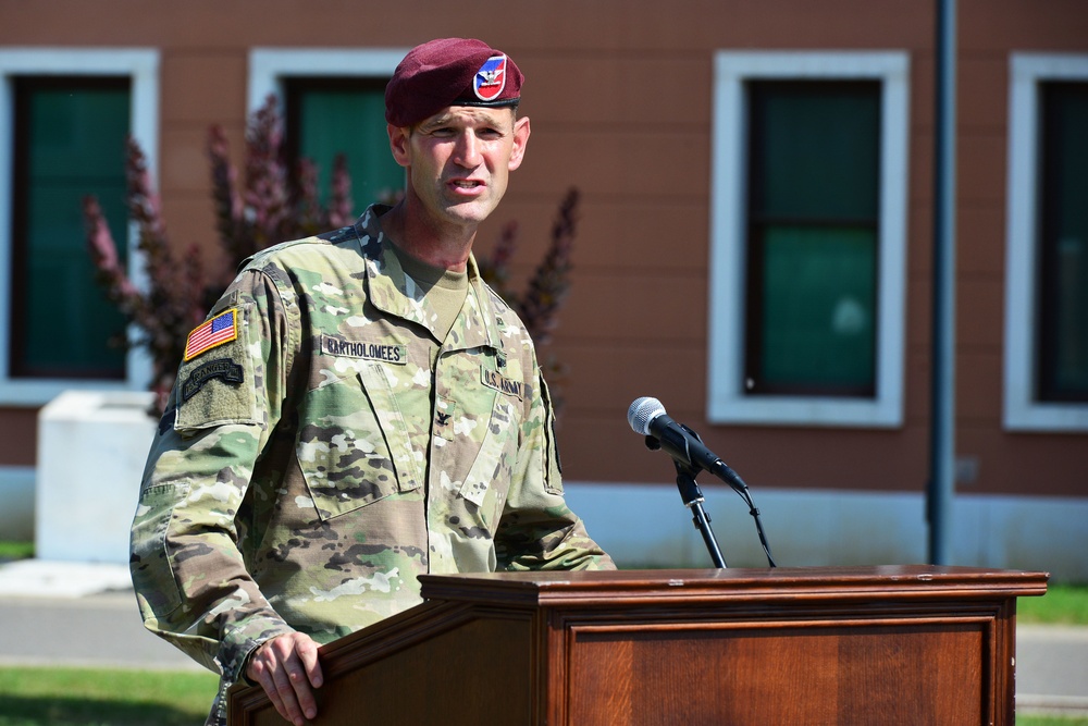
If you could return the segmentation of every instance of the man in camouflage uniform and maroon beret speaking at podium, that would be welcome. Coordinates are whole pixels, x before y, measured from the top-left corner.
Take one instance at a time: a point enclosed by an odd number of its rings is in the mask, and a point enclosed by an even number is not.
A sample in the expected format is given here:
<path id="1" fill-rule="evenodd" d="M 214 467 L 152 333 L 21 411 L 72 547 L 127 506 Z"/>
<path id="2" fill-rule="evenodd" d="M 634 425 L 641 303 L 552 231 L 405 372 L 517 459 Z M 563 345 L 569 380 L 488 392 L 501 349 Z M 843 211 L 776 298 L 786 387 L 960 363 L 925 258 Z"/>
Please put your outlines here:
<path id="1" fill-rule="evenodd" d="M 314 717 L 318 644 L 424 573 L 613 568 L 566 506 L 532 342 L 470 250 L 529 138 L 514 61 L 424 44 L 386 90 L 404 201 L 254 257 L 189 336 L 144 473 L 149 629 Z M 305 718 L 304 718 L 305 717 Z"/>

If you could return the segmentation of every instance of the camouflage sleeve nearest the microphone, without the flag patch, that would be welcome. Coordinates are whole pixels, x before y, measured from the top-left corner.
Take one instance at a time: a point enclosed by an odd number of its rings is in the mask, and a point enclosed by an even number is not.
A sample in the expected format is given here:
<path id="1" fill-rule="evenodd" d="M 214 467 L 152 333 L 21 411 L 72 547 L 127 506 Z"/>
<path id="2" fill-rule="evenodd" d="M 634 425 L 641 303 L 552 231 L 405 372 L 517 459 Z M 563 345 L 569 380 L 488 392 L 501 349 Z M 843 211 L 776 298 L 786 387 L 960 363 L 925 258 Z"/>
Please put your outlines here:
<path id="1" fill-rule="evenodd" d="M 564 500 L 551 397 L 534 369 L 539 393 L 522 423 L 514 479 L 495 533 L 498 569 L 616 569 Z"/>

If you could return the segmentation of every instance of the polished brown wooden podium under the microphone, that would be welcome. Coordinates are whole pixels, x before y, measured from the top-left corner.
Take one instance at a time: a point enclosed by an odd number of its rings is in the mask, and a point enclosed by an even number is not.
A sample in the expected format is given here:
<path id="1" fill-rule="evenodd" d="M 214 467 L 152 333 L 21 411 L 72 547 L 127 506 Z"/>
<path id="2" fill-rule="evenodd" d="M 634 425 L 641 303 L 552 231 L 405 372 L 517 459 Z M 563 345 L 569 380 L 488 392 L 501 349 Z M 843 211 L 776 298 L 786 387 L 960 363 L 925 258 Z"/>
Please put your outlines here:
<path id="1" fill-rule="evenodd" d="M 1012 724 L 1016 598 L 922 565 L 426 576 L 321 649 L 319 725 Z M 230 724 L 286 724 L 235 687 Z"/>

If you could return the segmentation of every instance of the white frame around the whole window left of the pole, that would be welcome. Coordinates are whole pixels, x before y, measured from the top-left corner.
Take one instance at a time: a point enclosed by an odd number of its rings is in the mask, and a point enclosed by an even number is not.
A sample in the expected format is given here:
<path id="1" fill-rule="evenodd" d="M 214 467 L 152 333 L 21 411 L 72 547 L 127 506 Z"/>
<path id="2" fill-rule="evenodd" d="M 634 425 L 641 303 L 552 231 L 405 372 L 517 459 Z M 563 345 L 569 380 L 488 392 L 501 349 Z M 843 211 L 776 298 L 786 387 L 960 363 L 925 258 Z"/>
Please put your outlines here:
<path id="1" fill-rule="evenodd" d="M 710 190 L 707 418 L 716 423 L 894 428 L 903 422 L 910 58 L 882 52 L 728 52 L 715 56 Z M 745 395 L 744 270 L 747 118 L 744 85 L 764 78 L 881 82 L 876 395 Z"/>

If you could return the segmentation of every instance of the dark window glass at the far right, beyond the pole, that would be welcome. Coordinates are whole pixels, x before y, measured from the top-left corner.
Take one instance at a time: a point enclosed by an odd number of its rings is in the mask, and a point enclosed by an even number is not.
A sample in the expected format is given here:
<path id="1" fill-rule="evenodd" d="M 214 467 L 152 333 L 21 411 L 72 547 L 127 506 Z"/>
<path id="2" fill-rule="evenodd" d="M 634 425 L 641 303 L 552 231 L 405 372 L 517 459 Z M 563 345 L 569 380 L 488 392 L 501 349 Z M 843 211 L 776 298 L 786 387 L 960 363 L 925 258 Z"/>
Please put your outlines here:
<path id="1" fill-rule="evenodd" d="M 1041 87 L 1038 396 L 1088 401 L 1088 83 Z"/>

